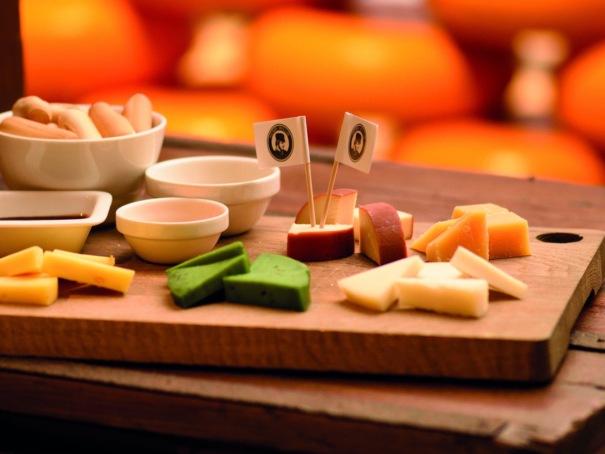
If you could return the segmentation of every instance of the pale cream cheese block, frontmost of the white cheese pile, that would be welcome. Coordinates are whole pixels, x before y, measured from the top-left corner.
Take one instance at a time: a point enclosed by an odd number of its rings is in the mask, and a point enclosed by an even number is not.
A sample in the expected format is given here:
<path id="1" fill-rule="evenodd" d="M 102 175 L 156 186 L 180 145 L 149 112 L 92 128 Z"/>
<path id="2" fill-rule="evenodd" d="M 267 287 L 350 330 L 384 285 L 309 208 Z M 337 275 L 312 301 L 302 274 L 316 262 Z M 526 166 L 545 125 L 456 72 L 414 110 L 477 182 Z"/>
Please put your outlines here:
<path id="1" fill-rule="evenodd" d="M 482 317 L 488 310 L 485 279 L 399 278 L 395 283 L 400 309 L 424 309 L 442 314 Z"/>

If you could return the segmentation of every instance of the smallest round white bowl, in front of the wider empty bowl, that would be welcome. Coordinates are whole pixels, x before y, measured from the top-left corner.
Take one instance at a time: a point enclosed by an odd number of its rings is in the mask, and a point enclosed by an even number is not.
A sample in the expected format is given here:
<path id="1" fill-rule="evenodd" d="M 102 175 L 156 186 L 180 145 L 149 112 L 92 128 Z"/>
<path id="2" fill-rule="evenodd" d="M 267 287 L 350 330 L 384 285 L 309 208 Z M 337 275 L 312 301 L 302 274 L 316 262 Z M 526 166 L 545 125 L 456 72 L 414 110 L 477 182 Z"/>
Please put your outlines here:
<path id="1" fill-rule="evenodd" d="M 229 225 L 229 209 L 212 200 L 164 199 L 129 203 L 116 228 L 143 260 L 169 265 L 206 254 Z"/>

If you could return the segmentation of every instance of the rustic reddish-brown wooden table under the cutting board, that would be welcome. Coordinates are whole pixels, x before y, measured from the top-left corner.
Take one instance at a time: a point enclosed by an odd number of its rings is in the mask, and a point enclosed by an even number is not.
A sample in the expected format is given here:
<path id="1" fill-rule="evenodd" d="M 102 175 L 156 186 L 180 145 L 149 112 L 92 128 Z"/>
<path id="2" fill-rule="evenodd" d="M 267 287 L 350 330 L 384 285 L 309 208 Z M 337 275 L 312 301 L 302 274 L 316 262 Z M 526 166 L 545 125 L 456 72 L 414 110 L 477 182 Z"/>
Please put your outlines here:
<path id="1" fill-rule="evenodd" d="M 252 153 L 167 140 L 161 159 L 217 151 Z M 314 153 L 317 194 L 330 154 Z M 382 162 L 369 175 L 342 166 L 336 186 L 358 189 L 360 204 L 387 202 L 420 221 L 489 201 L 530 225 L 605 228 L 603 187 Z M 301 169 L 283 168 L 269 212 L 292 215 L 305 200 Z M 605 291 L 587 301 L 552 383 L 0 357 L 0 411 L 0 452 L 591 453 L 605 444 Z"/>

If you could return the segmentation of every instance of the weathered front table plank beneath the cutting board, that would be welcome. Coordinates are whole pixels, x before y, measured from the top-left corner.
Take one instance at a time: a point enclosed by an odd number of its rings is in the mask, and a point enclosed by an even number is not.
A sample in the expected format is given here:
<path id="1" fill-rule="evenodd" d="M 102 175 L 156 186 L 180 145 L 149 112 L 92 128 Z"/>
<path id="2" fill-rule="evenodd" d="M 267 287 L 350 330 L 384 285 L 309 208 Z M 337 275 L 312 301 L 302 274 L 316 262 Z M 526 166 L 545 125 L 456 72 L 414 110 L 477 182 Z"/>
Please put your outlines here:
<path id="1" fill-rule="evenodd" d="M 569 352 L 550 386 L 503 386 L 5 357 L 0 409 L 317 453 L 592 452 L 605 441 L 596 358 Z"/>

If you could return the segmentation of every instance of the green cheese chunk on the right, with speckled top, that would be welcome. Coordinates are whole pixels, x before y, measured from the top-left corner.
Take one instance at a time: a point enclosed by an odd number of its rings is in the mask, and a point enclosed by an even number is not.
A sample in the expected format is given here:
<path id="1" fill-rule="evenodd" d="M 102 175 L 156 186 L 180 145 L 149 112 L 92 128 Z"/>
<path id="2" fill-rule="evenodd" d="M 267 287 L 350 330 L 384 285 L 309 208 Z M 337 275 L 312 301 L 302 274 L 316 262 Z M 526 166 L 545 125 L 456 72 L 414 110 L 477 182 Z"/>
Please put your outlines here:
<path id="1" fill-rule="evenodd" d="M 260 254 L 247 274 L 223 278 L 225 300 L 265 308 L 306 311 L 309 268 L 283 255 Z"/>

